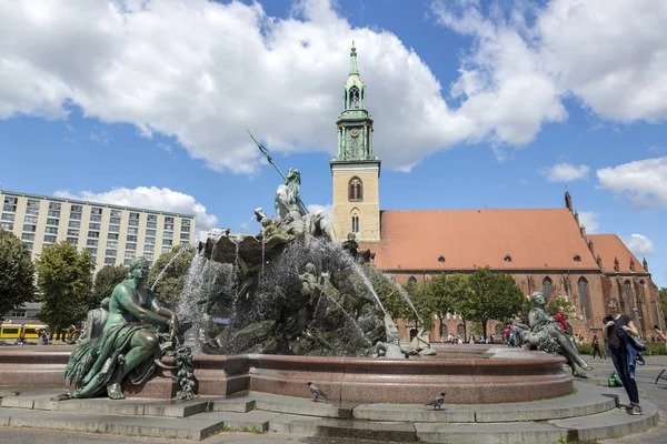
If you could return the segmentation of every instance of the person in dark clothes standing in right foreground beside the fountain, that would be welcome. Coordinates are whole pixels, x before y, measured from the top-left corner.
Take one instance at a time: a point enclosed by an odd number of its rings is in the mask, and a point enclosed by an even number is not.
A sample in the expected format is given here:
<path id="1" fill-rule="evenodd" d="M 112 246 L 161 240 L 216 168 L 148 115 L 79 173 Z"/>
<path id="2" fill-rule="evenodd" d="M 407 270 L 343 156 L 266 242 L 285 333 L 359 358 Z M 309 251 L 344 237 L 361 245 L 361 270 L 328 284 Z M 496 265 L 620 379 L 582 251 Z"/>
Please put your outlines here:
<path id="1" fill-rule="evenodd" d="M 630 403 L 626 406 L 626 411 L 631 415 L 640 415 L 641 407 L 639 406 L 639 392 L 637 390 L 637 383 L 635 376 L 630 372 L 630 365 L 628 362 L 628 350 L 625 340 L 621 337 L 621 331 L 626 331 L 633 336 L 638 336 L 639 332 L 635 327 L 635 323 L 627 314 L 621 314 L 618 310 L 618 300 L 610 299 L 607 303 L 607 310 L 609 314 L 605 316 L 603 322 L 605 323 L 604 337 L 607 339 L 609 344 L 609 351 L 611 352 L 611 360 L 616 367 L 616 373 L 623 381 L 623 386 L 628 394 Z"/>

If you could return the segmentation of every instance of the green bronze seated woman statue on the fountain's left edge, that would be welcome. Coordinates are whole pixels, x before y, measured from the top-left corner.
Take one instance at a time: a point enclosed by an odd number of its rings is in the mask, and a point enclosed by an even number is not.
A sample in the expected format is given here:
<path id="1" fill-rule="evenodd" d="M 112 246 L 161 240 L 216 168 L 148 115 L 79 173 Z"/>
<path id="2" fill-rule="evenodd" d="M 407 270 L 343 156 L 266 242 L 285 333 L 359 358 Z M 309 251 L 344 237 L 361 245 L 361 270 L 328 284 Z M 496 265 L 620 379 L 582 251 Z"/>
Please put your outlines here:
<path id="1" fill-rule="evenodd" d="M 126 376 L 141 384 L 152 375 L 160 352 L 158 334 L 169 330 L 173 335 L 178 317 L 145 286 L 148 271 L 146 259 L 132 259 L 129 278 L 111 294 L 102 335 L 70 355 L 64 375 L 77 389 L 56 400 L 92 397 L 104 389 L 110 398 L 119 400 L 125 397 L 121 383 Z"/>

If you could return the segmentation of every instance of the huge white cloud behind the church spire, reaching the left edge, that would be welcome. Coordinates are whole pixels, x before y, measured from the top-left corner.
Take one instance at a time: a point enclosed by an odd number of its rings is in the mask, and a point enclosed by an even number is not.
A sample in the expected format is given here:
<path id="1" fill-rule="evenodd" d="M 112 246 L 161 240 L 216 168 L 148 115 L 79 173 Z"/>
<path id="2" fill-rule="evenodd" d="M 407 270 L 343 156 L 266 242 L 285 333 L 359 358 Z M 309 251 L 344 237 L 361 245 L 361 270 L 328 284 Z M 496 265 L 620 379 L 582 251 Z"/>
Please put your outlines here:
<path id="1" fill-rule="evenodd" d="M 252 173 L 260 155 L 246 129 L 273 152 L 336 152 L 355 40 L 384 165 L 408 170 L 484 135 L 448 109 L 412 50 L 352 29 L 329 0 L 300 0 L 287 19 L 239 1 L 84 3 L 0 2 L 0 119 L 66 118 L 76 104 L 141 137 L 173 137 L 213 170 Z"/>

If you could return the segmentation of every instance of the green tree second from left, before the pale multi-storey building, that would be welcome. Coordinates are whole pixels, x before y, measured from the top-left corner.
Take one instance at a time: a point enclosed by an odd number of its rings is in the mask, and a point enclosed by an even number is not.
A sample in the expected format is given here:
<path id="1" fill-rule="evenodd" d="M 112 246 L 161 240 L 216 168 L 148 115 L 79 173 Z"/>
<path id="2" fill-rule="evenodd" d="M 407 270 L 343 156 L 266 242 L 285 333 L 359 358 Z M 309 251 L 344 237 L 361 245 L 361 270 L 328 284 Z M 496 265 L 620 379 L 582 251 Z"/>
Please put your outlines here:
<path id="1" fill-rule="evenodd" d="M 92 291 L 92 256 L 63 241 L 43 249 L 36 264 L 42 303 L 39 319 L 59 333 L 86 316 Z"/>

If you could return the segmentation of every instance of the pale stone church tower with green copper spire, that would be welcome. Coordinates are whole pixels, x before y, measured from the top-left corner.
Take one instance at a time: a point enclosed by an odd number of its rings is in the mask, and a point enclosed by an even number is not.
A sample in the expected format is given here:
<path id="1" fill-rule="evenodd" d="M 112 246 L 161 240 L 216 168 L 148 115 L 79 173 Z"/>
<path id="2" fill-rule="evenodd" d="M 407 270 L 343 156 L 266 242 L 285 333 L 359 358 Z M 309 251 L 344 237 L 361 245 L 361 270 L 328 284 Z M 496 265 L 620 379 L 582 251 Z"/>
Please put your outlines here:
<path id="1" fill-rule="evenodd" d="M 372 119 L 366 110 L 366 85 L 359 78 L 352 42 L 350 72 L 344 87 L 334 176 L 334 229 L 339 240 L 354 232 L 359 242 L 380 241 L 380 160 L 372 154 Z"/>

